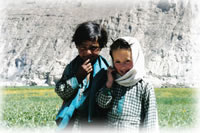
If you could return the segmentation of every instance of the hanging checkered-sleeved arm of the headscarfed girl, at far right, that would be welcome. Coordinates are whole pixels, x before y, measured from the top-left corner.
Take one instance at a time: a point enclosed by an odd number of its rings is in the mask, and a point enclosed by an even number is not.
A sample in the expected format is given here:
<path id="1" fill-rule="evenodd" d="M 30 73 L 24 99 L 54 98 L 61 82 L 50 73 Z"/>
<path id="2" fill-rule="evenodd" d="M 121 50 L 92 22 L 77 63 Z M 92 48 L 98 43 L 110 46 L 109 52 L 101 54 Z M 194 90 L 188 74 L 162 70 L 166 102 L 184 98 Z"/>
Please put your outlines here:
<path id="1" fill-rule="evenodd" d="M 147 130 L 157 129 L 158 131 L 158 113 L 154 88 L 151 85 L 146 84 L 143 96 L 143 127 Z"/>

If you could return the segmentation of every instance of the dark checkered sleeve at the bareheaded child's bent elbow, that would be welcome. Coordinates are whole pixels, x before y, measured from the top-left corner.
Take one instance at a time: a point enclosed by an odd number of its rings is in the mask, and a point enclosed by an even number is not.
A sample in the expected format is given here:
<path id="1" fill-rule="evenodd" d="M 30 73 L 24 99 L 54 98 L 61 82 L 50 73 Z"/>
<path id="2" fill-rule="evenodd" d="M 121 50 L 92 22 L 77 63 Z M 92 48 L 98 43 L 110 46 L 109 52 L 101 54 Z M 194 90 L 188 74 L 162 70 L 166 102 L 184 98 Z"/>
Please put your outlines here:
<path id="1" fill-rule="evenodd" d="M 70 80 L 67 80 L 65 83 L 56 84 L 55 92 L 63 100 L 66 100 L 76 92 L 76 89 L 73 89 Z"/>

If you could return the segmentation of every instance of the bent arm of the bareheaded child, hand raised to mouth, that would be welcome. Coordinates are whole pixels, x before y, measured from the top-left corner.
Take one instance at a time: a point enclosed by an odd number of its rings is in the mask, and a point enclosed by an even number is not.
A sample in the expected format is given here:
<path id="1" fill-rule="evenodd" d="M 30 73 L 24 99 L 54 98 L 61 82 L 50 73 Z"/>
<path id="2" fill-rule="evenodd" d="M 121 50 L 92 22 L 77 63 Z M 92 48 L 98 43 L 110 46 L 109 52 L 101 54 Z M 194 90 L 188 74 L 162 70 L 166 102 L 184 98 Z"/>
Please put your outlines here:
<path id="1" fill-rule="evenodd" d="M 63 100 L 67 100 L 74 96 L 77 92 L 77 89 L 82 88 L 82 81 L 86 76 L 93 71 L 90 60 L 86 60 L 78 69 L 77 67 L 78 60 L 73 60 L 68 64 L 63 72 L 62 78 L 56 84 L 55 92 Z"/>

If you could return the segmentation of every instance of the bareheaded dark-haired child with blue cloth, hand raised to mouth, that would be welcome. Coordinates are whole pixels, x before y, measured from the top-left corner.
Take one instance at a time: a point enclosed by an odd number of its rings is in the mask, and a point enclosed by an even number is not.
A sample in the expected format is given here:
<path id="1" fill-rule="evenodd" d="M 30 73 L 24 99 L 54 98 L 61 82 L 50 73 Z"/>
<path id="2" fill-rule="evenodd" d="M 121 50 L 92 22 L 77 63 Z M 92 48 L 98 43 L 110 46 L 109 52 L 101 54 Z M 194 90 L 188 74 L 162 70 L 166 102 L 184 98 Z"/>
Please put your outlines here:
<path id="1" fill-rule="evenodd" d="M 83 127 L 99 115 L 93 102 L 96 89 L 101 87 L 96 75 L 107 69 L 107 61 L 99 55 L 107 43 L 107 32 L 95 22 L 78 25 L 72 41 L 78 55 L 65 68 L 61 79 L 56 83 L 55 92 L 63 100 L 56 116 L 58 129 Z M 99 80 L 104 81 L 104 80 Z M 98 85 L 98 86 L 97 86 Z M 91 125 L 91 124 L 90 124 Z"/>

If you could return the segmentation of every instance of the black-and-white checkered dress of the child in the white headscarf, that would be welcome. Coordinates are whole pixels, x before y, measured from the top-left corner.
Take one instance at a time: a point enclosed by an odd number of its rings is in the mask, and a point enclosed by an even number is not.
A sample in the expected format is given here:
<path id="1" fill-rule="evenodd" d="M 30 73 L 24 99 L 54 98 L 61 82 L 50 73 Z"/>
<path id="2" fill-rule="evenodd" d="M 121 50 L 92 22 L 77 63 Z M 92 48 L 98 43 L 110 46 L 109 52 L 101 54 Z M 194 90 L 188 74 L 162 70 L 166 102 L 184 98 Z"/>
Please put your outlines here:
<path id="1" fill-rule="evenodd" d="M 106 91 L 105 91 L 106 90 Z M 97 96 L 102 108 L 110 108 L 107 122 L 110 128 L 139 131 L 158 127 L 156 98 L 153 87 L 141 80 L 132 87 L 114 84 L 103 88 Z"/>

